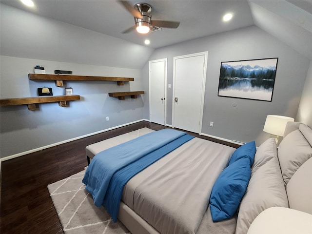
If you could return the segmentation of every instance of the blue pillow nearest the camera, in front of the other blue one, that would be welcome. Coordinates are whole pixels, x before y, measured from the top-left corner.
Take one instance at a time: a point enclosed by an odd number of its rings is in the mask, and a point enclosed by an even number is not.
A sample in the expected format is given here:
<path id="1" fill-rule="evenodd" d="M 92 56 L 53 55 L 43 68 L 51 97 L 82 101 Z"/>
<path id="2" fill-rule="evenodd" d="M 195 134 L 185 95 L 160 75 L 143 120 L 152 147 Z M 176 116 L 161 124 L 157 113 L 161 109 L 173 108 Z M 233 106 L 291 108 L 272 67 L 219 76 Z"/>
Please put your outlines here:
<path id="1" fill-rule="evenodd" d="M 232 217 L 244 196 L 251 176 L 249 158 L 241 158 L 226 167 L 215 181 L 210 195 L 213 221 Z"/>

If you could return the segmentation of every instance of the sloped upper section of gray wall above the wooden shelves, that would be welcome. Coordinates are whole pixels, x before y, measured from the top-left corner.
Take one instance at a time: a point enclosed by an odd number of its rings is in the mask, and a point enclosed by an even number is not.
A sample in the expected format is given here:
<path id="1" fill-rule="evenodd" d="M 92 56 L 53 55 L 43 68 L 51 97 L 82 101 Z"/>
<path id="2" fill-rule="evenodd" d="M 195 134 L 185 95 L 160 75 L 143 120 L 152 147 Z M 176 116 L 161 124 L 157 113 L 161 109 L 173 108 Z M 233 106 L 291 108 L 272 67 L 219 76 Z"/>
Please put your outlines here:
<path id="1" fill-rule="evenodd" d="M 154 51 L 3 3 L 0 26 L 0 52 L 5 56 L 142 69 Z"/>

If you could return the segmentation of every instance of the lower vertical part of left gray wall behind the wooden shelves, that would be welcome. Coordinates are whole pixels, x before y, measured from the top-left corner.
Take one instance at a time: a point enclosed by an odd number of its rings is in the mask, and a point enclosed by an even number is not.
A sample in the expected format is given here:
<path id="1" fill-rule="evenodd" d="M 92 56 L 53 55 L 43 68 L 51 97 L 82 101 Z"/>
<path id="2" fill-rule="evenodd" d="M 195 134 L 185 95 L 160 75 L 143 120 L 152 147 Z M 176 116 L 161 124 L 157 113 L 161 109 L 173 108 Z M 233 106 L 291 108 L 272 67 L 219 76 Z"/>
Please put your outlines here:
<path id="1" fill-rule="evenodd" d="M 72 87 L 81 100 L 69 101 L 69 107 L 57 102 L 37 104 L 36 111 L 27 105 L 0 107 L 1 157 L 11 156 L 55 144 L 75 137 L 135 122 L 143 118 L 143 96 L 137 99 L 108 97 L 109 92 L 142 90 L 141 70 L 114 68 L 39 59 L 1 56 L 1 98 L 37 97 L 37 88 L 51 87 L 53 95 L 64 95 Z M 35 65 L 42 65 L 47 74 L 54 70 L 70 70 L 76 75 L 133 77 L 135 81 L 117 86 L 116 81 L 33 81 L 28 74 Z M 106 121 L 106 117 L 109 121 Z"/>

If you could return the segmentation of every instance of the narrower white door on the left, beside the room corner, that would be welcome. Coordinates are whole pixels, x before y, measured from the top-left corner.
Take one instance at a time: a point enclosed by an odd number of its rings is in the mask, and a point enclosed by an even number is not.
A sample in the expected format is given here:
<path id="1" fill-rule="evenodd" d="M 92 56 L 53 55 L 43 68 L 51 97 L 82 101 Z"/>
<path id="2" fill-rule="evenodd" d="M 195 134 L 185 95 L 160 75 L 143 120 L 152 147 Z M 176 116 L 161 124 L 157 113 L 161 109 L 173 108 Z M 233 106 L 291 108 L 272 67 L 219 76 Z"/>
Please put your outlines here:
<path id="1" fill-rule="evenodd" d="M 149 61 L 150 121 L 165 125 L 167 59 Z"/>

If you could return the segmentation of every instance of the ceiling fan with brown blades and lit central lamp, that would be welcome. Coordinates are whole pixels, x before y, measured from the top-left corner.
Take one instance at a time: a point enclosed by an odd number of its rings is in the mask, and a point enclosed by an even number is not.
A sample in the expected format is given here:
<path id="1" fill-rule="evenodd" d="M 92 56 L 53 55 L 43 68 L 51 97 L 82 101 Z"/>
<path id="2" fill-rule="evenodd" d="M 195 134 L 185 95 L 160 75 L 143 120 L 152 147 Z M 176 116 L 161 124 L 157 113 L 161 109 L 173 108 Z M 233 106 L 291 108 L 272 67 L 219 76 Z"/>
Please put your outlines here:
<path id="1" fill-rule="evenodd" d="M 132 6 L 126 0 L 119 0 L 119 2 L 126 8 L 127 11 L 133 15 L 135 18 L 136 25 L 128 28 L 122 33 L 129 33 L 134 29 L 137 29 L 138 33 L 148 33 L 150 28 L 153 26 L 162 27 L 162 28 L 177 28 L 180 25 L 180 22 L 176 21 L 165 21 L 165 20 L 152 20 L 152 7 L 147 3 L 137 3 Z"/>

